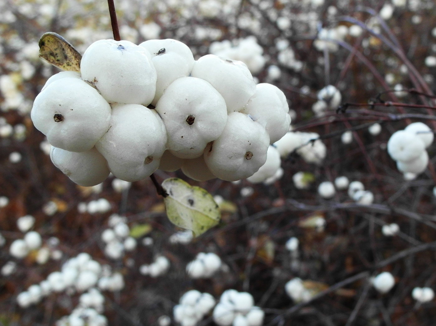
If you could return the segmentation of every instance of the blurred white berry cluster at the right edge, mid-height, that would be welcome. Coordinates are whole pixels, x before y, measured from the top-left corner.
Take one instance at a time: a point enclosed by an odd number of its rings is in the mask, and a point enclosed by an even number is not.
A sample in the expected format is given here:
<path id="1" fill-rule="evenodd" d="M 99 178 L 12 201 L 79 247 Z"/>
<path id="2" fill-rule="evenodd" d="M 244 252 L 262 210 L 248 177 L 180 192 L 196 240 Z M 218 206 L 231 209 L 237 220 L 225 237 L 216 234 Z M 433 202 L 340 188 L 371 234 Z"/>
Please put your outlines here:
<path id="1" fill-rule="evenodd" d="M 422 122 L 409 124 L 404 130 L 395 131 L 388 141 L 388 154 L 397 162 L 397 168 L 407 178 L 416 178 L 429 163 L 426 151 L 433 143 L 433 131 Z"/>

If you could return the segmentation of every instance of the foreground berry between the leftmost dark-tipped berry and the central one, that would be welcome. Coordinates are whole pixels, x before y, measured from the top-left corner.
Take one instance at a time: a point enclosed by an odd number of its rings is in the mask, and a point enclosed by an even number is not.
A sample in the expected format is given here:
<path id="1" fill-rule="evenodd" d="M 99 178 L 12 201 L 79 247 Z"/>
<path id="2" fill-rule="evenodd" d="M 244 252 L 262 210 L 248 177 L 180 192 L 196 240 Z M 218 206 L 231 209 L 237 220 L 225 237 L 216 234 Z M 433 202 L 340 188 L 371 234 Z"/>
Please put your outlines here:
<path id="1" fill-rule="evenodd" d="M 110 129 L 95 147 L 117 178 L 138 181 L 156 171 L 166 141 L 155 111 L 139 104 L 113 104 Z"/>

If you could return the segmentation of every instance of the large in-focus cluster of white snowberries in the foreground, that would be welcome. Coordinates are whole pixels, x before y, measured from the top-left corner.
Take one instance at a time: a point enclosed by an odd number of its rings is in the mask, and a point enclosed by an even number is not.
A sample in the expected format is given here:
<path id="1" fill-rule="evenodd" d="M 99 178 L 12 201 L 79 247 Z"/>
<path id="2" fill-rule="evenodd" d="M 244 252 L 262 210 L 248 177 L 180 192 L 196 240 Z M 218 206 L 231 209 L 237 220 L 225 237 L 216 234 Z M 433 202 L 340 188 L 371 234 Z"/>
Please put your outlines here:
<path id="1" fill-rule="evenodd" d="M 289 130 L 288 111 L 283 92 L 256 85 L 241 61 L 194 60 L 173 39 L 99 40 L 80 73 L 48 79 L 31 119 L 52 145 L 53 164 L 93 186 L 110 172 L 138 181 L 158 168 L 199 181 L 248 178 Z"/>

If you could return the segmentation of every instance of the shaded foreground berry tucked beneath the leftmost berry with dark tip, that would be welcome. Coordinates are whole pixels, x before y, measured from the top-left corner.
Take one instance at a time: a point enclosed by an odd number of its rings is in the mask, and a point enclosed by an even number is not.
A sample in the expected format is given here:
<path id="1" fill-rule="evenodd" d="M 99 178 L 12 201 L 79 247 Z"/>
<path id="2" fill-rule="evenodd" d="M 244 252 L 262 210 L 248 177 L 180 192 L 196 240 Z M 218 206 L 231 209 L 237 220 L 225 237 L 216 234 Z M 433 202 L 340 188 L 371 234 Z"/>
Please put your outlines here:
<path id="1" fill-rule="evenodd" d="M 51 162 L 78 185 L 98 185 L 109 176 L 106 159 L 95 147 L 80 153 L 51 146 Z"/>

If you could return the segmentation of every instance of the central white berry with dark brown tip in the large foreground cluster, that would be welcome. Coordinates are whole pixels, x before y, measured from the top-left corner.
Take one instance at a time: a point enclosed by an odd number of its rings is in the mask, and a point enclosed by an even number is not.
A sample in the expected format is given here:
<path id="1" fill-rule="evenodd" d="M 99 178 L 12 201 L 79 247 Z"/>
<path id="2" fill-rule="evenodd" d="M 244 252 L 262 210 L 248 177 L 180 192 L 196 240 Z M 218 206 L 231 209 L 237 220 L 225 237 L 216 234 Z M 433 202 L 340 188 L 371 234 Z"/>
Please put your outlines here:
<path id="1" fill-rule="evenodd" d="M 170 84 L 156 104 L 167 129 L 167 148 L 180 158 L 197 158 L 225 128 L 224 98 L 207 81 L 181 77 Z"/>

